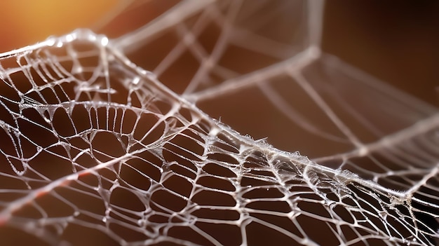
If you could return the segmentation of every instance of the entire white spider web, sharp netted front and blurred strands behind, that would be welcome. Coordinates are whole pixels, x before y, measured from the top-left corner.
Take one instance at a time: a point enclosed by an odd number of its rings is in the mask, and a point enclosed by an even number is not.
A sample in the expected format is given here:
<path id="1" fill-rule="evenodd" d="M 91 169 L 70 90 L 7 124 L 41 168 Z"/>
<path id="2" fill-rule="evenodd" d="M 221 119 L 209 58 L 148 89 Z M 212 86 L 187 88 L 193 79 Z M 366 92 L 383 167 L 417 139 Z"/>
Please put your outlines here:
<path id="1" fill-rule="evenodd" d="M 323 53 L 322 16 L 182 1 L 3 53 L 4 243 L 435 245 L 438 111 Z"/>

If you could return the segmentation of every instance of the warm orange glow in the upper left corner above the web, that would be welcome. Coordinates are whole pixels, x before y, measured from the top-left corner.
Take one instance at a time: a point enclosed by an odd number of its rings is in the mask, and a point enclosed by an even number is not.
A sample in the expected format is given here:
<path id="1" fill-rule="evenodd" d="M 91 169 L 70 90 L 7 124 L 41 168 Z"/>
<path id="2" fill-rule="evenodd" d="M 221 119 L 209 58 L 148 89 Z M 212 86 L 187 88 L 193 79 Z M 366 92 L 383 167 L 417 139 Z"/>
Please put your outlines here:
<path id="1" fill-rule="evenodd" d="M 116 6 L 117 0 L 4 1 L 0 7 L 0 52 L 90 27 Z"/>

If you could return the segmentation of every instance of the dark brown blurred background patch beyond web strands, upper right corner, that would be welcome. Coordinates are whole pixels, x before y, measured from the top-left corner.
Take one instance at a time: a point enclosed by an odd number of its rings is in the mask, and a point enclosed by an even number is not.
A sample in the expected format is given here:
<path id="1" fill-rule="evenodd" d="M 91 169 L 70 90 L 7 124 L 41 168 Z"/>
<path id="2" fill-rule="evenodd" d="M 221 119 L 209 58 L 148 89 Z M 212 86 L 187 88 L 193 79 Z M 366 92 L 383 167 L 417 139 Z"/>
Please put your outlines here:
<path id="1" fill-rule="evenodd" d="M 323 50 L 438 105 L 439 1 L 327 1 Z"/>

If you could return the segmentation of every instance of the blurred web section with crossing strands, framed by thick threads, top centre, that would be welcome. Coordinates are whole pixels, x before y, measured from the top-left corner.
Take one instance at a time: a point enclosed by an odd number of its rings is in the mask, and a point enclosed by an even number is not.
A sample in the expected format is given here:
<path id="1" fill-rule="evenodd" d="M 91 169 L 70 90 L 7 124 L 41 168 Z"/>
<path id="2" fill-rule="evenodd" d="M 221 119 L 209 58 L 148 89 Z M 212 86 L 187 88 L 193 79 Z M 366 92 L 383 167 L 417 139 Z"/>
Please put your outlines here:
<path id="1" fill-rule="evenodd" d="M 116 45 L 135 48 L 126 54 L 130 60 L 153 71 L 171 90 L 190 96 L 301 53 L 309 46 L 307 7 L 306 1 L 212 1 L 193 15 L 173 13 L 180 18 L 176 25 L 141 42 L 130 43 L 130 38 L 138 40 L 126 35 Z M 166 15 L 138 32 L 166 24 Z M 139 55 L 145 53 L 148 59 Z"/>

